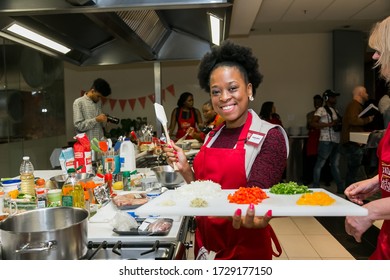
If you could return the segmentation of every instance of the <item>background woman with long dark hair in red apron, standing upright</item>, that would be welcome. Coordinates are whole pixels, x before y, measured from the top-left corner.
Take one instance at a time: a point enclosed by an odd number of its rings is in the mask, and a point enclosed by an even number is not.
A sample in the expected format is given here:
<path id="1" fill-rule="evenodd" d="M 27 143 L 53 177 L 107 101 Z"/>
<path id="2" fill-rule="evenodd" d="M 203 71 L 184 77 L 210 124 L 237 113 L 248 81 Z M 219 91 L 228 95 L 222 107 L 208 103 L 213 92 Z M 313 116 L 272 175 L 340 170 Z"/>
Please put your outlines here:
<path id="1" fill-rule="evenodd" d="M 200 111 L 194 108 L 194 96 L 190 92 L 183 92 L 177 101 L 177 108 L 171 113 L 171 122 L 169 125 L 169 134 L 174 133 L 176 125 L 178 126 L 175 137 L 179 139 L 186 135 L 187 130 L 193 127 L 196 132 L 202 128 L 203 121 Z M 192 137 L 188 137 L 191 139 Z"/>

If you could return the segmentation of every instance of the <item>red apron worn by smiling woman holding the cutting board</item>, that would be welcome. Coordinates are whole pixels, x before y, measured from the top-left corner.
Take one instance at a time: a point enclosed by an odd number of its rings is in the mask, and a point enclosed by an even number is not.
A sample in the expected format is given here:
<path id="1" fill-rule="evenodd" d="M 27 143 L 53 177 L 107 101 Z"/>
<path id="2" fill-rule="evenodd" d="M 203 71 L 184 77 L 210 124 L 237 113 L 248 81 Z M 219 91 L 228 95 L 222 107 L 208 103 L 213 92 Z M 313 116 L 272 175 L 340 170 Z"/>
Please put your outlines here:
<path id="1" fill-rule="evenodd" d="M 222 189 L 246 186 L 244 144 L 251 122 L 252 115 L 248 114 L 234 149 L 208 148 L 212 137 L 207 139 L 193 163 L 197 180 L 212 180 Z M 196 217 L 196 223 L 195 256 L 202 246 L 216 252 L 215 259 L 272 259 L 272 255 L 281 254 L 281 247 L 270 225 L 264 229 L 234 229 L 231 220 L 212 217 Z M 278 254 L 272 250 L 272 240 Z"/>

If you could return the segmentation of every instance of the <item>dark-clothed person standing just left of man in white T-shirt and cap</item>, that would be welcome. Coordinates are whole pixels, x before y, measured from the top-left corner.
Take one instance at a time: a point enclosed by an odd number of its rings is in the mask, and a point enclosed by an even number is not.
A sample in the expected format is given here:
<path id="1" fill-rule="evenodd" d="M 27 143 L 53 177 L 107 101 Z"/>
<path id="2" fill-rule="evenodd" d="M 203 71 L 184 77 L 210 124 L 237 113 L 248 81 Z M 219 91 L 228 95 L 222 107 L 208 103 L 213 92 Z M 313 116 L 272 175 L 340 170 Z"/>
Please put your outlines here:
<path id="1" fill-rule="evenodd" d="M 317 161 L 318 143 L 320 139 L 320 129 L 313 127 L 311 125 L 311 122 L 313 120 L 314 113 L 317 111 L 318 108 L 322 106 L 322 103 L 323 99 L 321 95 L 314 95 L 314 110 L 306 114 L 306 128 L 308 131 L 308 138 L 307 141 L 305 141 L 303 148 L 303 170 L 305 170 L 303 174 L 303 183 L 306 185 L 310 184 L 313 179 L 313 168 Z"/>

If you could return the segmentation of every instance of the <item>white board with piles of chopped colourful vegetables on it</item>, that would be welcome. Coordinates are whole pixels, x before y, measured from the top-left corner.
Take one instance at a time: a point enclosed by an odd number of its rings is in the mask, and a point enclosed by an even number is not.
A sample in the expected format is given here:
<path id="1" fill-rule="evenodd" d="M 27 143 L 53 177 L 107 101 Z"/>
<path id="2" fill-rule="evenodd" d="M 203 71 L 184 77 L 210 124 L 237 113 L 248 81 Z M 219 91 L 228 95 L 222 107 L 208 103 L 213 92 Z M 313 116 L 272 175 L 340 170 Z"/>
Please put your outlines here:
<path id="1" fill-rule="evenodd" d="M 250 191 L 254 193 L 248 194 L 248 189 L 253 189 Z M 255 213 L 259 216 L 265 215 L 268 210 L 272 210 L 274 217 L 367 215 L 367 209 L 322 188 L 305 187 L 298 193 L 288 188 L 257 189 L 256 192 L 254 188 L 222 190 L 219 184 L 211 181 L 196 181 L 168 190 L 134 212 L 139 216 L 178 213 L 182 216 L 232 216 L 240 208 L 245 215 L 249 201 L 243 197 L 250 195 L 259 196 L 254 203 Z"/>

